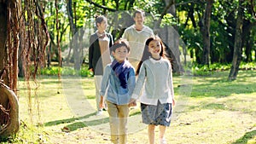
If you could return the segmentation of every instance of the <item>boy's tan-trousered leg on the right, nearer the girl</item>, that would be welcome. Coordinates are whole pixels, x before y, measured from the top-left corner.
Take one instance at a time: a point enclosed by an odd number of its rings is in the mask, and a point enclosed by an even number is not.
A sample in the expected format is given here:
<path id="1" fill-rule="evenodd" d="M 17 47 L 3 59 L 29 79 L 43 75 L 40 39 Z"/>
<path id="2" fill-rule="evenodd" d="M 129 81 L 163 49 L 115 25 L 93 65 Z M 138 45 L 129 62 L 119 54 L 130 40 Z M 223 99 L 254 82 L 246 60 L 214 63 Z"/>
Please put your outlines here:
<path id="1" fill-rule="evenodd" d="M 125 144 L 127 142 L 127 118 L 129 115 L 128 105 L 119 105 L 119 142 Z"/>

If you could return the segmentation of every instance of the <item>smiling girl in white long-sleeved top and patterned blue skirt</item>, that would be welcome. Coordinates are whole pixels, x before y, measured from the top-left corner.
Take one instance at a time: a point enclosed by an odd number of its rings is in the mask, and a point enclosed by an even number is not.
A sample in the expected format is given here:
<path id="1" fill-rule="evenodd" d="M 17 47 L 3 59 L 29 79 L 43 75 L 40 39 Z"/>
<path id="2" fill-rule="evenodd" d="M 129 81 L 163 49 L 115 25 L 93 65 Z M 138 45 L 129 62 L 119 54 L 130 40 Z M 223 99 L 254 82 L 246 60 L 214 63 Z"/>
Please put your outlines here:
<path id="1" fill-rule="evenodd" d="M 166 127 L 170 126 L 172 106 L 175 105 L 172 85 L 172 66 L 165 59 L 164 45 L 160 37 L 149 37 L 143 57 L 137 66 L 137 84 L 131 95 L 130 105 L 134 106 L 145 83 L 140 98 L 143 123 L 148 124 L 148 140 L 154 144 L 154 128 L 160 125 L 160 144 L 165 144 Z"/>

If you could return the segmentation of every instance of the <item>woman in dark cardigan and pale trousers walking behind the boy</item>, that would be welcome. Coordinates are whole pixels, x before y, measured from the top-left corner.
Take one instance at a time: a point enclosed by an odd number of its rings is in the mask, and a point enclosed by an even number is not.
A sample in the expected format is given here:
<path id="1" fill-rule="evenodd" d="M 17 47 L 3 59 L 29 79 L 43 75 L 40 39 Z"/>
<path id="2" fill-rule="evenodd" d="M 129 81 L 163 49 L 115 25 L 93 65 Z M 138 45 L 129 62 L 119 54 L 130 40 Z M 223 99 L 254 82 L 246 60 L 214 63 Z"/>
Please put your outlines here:
<path id="1" fill-rule="evenodd" d="M 90 36 L 89 70 L 93 72 L 96 85 L 96 115 L 102 114 L 99 107 L 103 68 L 111 62 L 109 48 L 113 45 L 113 37 L 106 32 L 108 20 L 103 15 L 96 16 L 97 31 Z"/>

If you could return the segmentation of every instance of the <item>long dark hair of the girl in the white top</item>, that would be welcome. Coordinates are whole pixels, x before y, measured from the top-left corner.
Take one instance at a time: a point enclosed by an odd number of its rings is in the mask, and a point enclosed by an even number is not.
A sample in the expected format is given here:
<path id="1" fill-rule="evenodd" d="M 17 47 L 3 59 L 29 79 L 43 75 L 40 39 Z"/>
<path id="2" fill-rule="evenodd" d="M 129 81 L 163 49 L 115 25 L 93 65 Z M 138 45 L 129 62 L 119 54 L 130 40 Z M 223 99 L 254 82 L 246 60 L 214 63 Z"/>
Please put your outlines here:
<path id="1" fill-rule="evenodd" d="M 146 40 L 146 43 L 145 43 L 145 47 L 144 47 L 144 51 L 143 51 L 143 57 L 142 59 L 140 60 L 140 62 L 137 64 L 137 71 L 136 71 L 136 75 L 138 75 L 138 73 L 140 72 L 140 69 L 141 69 L 141 66 L 143 64 L 143 61 L 145 60 L 148 60 L 151 55 L 151 53 L 149 53 L 148 51 L 148 44 L 151 42 L 151 41 L 159 41 L 160 42 L 160 45 L 161 45 L 161 51 L 160 51 L 160 56 L 163 57 L 163 58 L 166 58 L 165 56 L 165 45 L 164 43 L 162 42 L 162 40 L 160 39 L 160 37 L 158 36 L 154 36 L 154 37 L 149 37 L 147 40 Z"/>

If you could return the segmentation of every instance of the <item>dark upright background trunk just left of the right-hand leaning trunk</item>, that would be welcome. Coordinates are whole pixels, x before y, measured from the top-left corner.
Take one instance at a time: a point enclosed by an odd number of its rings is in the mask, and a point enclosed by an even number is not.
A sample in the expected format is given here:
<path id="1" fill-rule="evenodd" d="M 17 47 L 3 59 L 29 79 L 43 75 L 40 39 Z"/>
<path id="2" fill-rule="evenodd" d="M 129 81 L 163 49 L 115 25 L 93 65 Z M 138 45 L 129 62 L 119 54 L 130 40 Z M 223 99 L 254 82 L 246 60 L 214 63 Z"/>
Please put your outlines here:
<path id="1" fill-rule="evenodd" d="M 205 9 L 204 16 L 200 20 L 200 30 L 203 38 L 203 58 L 202 64 L 209 66 L 210 64 L 210 22 L 212 13 L 213 0 L 207 1 L 207 6 Z"/>

